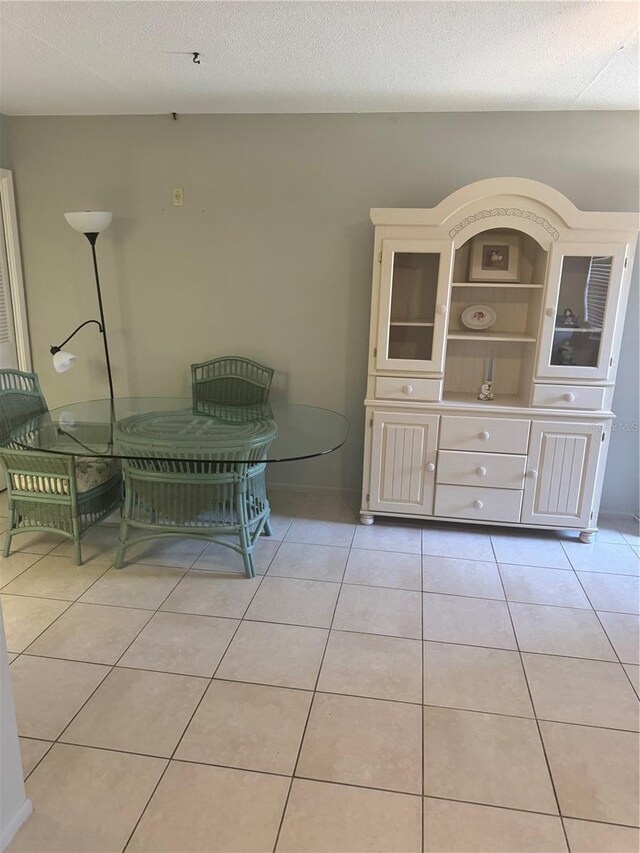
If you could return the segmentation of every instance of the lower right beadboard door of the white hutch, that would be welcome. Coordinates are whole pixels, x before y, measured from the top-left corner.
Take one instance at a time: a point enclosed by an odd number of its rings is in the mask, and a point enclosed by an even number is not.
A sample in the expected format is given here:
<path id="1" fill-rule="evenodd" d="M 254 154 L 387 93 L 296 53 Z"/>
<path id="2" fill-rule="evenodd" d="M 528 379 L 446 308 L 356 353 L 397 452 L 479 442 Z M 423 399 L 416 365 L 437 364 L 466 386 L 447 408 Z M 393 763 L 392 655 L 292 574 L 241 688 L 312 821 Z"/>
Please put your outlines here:
<path id="1" fill-rule="evenodd" d="M 601 424 L 533 422 L 523 522 L 588 526 L 603 434 Z"/>

